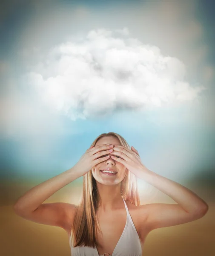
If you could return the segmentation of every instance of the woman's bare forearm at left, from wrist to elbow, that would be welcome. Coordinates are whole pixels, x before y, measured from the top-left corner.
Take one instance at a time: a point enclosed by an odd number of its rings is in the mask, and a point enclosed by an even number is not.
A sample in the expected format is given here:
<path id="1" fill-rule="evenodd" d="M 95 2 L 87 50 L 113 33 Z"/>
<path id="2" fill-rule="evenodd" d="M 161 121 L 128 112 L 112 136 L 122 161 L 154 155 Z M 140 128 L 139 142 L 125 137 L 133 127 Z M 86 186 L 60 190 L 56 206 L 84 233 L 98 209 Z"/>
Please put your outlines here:
<path id="1" fill-rule="evenodd" d="M 14 209 L 32 212 L 47 198 L 78 177 L 74 168 L 62 172 L 27 191 L 14 204 Z"/>

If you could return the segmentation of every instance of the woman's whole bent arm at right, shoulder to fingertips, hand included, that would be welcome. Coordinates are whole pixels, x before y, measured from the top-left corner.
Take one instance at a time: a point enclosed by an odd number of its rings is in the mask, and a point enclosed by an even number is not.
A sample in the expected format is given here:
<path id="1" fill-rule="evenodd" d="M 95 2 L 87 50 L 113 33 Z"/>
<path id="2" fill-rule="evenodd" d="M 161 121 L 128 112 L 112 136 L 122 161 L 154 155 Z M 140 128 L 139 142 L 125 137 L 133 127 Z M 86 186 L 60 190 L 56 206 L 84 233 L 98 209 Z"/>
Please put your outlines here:
<path id="1" fill-rule="evenodd" d="M 120 156 L 120 158 L 115 157 L 115 155 Z M 142 220 L 140 225 L 143 227 L 147 226 L 148 230 L 153 230 L 159 227 L 174 226 L 194 221 L 206 214 L 208 205 L 204 200 L 185 186 L 147 169 L 133 146 L 130 150 L 123 145 L 116 145 L 111 157 L 126 166 L 135 176 L 155 186 L 178 203 L 140 206 L 138 215 L 139 219 Z M 145 218 L 142 218 L 144 215 L 147 216 L 146 221 Z"/>

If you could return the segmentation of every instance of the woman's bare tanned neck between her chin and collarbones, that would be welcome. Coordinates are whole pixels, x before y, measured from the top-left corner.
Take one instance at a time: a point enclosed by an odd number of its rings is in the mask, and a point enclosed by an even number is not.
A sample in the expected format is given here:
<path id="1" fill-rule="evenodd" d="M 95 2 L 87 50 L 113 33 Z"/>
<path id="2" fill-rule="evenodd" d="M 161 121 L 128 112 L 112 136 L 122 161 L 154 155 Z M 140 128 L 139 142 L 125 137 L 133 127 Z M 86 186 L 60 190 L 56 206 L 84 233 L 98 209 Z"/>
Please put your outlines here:
<path id="1" fill-rule="evenodd" d="M 100 212 L 109 212 L 121 206 L 123 198 L 120 194 L 120 184 L 108 186 L 97 183 L 97 190 L 100 195 Z"/>

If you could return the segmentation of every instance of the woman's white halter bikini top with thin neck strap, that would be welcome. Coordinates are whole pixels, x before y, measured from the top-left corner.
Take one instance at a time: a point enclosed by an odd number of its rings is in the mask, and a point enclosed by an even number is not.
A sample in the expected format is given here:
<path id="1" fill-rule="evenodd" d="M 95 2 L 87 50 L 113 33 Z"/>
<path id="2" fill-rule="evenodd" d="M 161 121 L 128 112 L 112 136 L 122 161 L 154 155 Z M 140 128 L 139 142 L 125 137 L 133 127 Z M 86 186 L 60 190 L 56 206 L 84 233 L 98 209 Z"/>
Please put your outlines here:
<path id="1" fill-rule="evenodd" d="M 138 232 L 132 221 L 131 215 L 129 214 L 126 202 L 124 199 L 123 201 L 127 212 L 127 220 L 123 233 L 120 236 L 113 254 L 109 255 L 109 253 L 104 253 L 103 255 L 99 255 L 96 248 L 88 246 L 79 246 L 74 248 L 71 246 L 70 239 L 69 245 L 71 248 L 71 256 L 142 256 L 142 247 Z"/>

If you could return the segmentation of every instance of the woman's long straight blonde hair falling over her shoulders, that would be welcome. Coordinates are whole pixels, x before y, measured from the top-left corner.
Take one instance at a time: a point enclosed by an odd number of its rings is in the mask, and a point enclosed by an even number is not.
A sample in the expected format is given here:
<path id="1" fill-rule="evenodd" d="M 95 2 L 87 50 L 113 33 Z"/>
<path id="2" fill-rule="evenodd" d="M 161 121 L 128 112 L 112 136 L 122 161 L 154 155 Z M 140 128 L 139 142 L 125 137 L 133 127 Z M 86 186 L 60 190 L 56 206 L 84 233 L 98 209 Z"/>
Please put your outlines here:
<path id="1" fill-rule="evenodd" d="M 92 145 L 94 146 L 100 138 L 105 136 L 117 137 L 121 145 L 131 149 L 126 140 L 115 132 L 100 134 Z M 128 169 L 126 169 L 126 176 L 121 181 L 120 193 L 124 200 L 136 206 L 140 205 L 137 177 Z M 72 243 L 70 240 L 70 245 L 73 244 L 73 247 L 84 245 L 95 248 L 95 246 L 100 245 L 96 241 L 97 230 L 100 232 L 96 218 L 96 209 L 99 202 L 100 197 L 97 191 L 96 180 L 92 175 L 92 170 L 89 170 L 89 172 L 83 176 L 83 194 L 77 206 L 71 227 L 70 239 L 72 238 Z"/>

